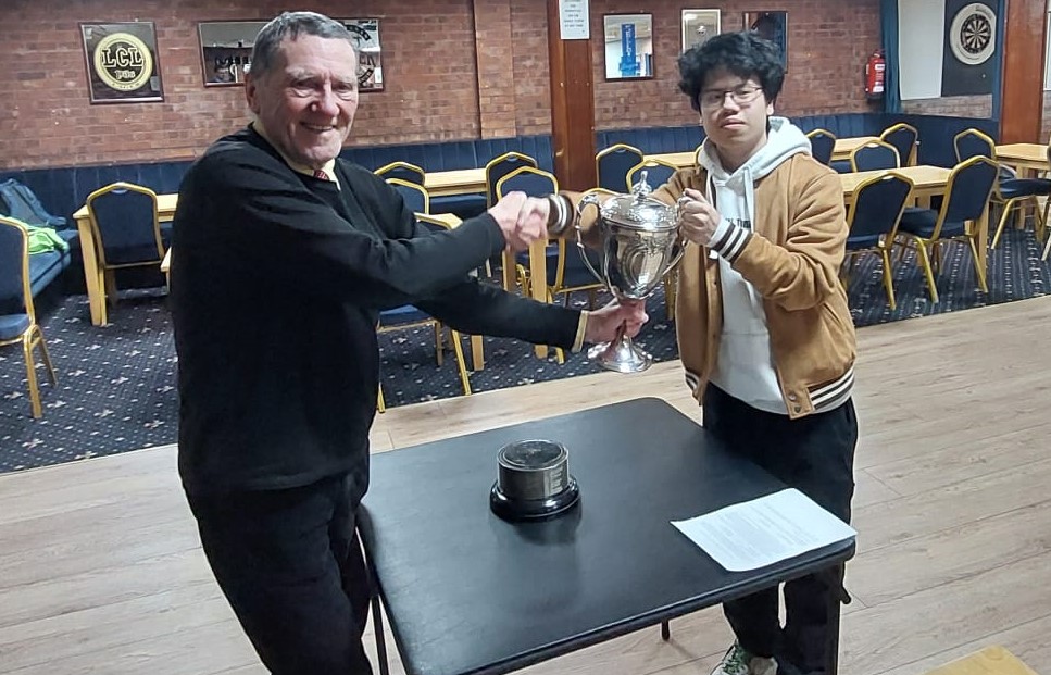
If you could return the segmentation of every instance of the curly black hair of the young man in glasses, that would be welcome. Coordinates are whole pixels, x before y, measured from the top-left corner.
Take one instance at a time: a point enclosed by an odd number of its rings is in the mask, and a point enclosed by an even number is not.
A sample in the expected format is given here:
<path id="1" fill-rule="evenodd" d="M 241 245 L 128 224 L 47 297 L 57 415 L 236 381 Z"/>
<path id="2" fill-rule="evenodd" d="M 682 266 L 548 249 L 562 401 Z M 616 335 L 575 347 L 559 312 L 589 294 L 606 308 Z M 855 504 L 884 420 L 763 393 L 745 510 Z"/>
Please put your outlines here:
<path id="1" fill-rule="evenodd" d="M 774 102 L 785 83 L 780 48 L 752 30 L 724 33 L 679 57 L 679 90 L 700 110 L 701 90 L 709 73 L 725 68 L 743 78 L 755 77 L 766 100 Z"/>

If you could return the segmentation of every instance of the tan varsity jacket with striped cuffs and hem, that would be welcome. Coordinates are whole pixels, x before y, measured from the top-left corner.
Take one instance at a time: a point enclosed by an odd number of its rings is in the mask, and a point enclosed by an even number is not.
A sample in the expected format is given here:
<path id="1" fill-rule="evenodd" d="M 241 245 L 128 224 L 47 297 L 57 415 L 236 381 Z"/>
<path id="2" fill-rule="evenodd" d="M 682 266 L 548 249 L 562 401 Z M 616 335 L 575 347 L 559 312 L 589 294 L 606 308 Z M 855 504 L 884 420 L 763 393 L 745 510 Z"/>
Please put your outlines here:
<path id="1" fill-rule="evenodd" d="M 687 187 L 704 192 L 706 179 L 703 168 L 680 170 L 652 197 L 675 203 Z M 742 245 L 718 248 L 733 249 L 726 260 L 764 299 L 777 380 L 789 416 L 802 417 L 842 402 L 853 385 L 854 325 L 839 282 L 847 240 L 842 184 L 810 155 L 797 154 L 756 180 L 754 193 L 753 232 Z M 580 195 L 562 195 L 575 211 Z M 587 230 L 596 217 L 586 209 L 580 225 Z M 703 402 L 722 334 L 718 261 L 690 243 L 678 270 L 679 355 Z"/>

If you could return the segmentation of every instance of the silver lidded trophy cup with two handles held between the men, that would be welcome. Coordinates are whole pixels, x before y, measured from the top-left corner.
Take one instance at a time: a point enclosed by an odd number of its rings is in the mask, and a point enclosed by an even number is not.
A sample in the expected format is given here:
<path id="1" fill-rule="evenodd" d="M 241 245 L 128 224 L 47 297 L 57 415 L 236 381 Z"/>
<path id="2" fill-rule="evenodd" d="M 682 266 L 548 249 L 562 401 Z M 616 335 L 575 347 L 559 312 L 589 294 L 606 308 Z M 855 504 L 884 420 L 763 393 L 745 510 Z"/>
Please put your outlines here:
<path id="1" fill-rule="evenodd" d="M 598 207 L 598 270 L 584 245 L 584 233 L 577 218 L 577 246 L 584 263 L 617 300 L 643 300 L 658 287 L 683 258 L 685 241 L 678 228 L 678 207 L 670 207 L 652 197 L 647 172 L 635 184 L 630 195 L 617 195 L 604 203 L 588 195 L 577 205 L 579 216 L 589 205 Z M 597 253 L 597 255 L 596 255 Z M 639 349 L 623 333 L 612 342 L 596 345 L 588 351 L 602 367 L 618 373 L 639 373 L 650 367 L 653 357 Z"/>

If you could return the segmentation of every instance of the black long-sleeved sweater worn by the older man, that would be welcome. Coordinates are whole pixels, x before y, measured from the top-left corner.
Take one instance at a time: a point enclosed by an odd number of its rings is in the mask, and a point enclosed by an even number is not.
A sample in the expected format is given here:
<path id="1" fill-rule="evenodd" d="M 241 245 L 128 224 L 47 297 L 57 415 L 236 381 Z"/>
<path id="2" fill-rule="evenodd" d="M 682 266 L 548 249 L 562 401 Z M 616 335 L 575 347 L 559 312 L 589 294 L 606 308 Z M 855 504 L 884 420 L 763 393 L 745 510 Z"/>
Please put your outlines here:
<path id="1" fill-rule="evenodd" d="M 368 483 L 383 309 L 465 333 L 568 347 L 579 313 L 468 276 L 504 238 L 488 214 L 430 234 L 371 172 L 292 171 L 251 128 L 216 141 L 179 190 L 172 312 L 179 472 L 189 493 Z"/>

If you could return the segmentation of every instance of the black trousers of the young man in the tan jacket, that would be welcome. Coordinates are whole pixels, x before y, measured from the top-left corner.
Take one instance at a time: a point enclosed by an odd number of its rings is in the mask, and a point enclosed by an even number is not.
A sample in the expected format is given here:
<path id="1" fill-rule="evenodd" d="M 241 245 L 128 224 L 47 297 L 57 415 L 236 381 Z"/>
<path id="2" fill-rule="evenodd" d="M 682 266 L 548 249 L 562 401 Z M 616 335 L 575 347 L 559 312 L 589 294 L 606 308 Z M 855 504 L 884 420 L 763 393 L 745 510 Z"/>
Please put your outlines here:
<path id="1" fill-rule="evenodd" d="M 850 522 L 858 418 L 852 401 L 798 420 L 756 410 L 709 385 L 704 428 L 731 452 L 759 464 L 827 511 Z M 842 595 L 842 567 L 785 584 L 785 626 L 777 587 L 725 602 L 723 612 L 746 650 L 775 657 L 778 675 L 824 675 L 829 657 L 829 607 Z"/>

